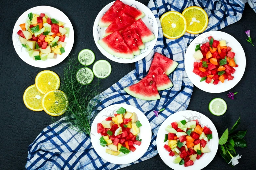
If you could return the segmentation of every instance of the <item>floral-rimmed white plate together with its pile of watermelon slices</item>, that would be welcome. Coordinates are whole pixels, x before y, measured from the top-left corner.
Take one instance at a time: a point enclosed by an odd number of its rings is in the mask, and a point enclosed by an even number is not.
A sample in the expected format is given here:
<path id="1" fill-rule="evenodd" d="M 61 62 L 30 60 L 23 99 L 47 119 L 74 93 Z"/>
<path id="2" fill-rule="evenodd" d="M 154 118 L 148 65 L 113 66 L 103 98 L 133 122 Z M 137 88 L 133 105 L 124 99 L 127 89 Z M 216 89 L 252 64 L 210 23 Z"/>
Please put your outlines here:
<path id="1" fill-rule="evenodd" d="M 154 14 L 135 0 L 116 0 L 97 15 L 94 41 L 107 58 L 118 63 L 143 59 L 154 48 L 158 24 Z"/>

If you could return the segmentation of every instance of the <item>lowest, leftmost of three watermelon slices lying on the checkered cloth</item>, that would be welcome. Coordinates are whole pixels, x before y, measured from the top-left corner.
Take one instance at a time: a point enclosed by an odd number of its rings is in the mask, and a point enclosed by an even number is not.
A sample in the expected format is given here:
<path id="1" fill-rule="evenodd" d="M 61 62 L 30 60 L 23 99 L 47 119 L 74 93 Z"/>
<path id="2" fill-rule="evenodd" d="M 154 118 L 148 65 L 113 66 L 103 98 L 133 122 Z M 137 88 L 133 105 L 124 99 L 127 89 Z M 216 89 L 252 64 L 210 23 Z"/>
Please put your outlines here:
<path id="1" fill-rule="evenodd" d="M 153 78 L 143 78 L 139 83 L 124 88 L 124 91 L 133 97 L 142 100 L 157 100 L 160 95 Z"/>

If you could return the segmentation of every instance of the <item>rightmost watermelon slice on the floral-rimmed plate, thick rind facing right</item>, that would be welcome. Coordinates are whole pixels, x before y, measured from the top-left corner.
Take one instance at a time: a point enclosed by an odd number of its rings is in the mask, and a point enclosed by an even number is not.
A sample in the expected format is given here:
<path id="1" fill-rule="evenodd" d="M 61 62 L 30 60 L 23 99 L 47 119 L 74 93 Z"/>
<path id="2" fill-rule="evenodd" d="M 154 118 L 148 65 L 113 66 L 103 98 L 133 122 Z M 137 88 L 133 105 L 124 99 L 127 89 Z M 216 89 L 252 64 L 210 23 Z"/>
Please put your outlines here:
<path id="1" fill-rule="evenodd" d="M 155 35 L 147 28 L 145 23 L 139 19 L 135 21 L 132 25 L 128 26 L 123 32 L 135 28 L 138 35 L 141 37 L 142 42 L 148 42 L 155 39 Z"/>

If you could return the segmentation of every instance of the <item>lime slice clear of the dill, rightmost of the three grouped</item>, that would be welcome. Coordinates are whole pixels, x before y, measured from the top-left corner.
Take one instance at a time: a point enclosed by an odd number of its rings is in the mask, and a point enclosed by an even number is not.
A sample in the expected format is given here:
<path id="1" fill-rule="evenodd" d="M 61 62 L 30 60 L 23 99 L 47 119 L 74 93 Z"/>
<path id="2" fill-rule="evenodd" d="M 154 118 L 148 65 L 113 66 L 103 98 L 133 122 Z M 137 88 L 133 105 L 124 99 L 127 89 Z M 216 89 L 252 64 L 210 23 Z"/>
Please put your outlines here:
<path id="1" fill-rule="evenodd" d="M 106 78 L 111 73 L 111 65 L 106 60 L 96 61 L 93 65 L 93 73 L 97 78 Z"/>

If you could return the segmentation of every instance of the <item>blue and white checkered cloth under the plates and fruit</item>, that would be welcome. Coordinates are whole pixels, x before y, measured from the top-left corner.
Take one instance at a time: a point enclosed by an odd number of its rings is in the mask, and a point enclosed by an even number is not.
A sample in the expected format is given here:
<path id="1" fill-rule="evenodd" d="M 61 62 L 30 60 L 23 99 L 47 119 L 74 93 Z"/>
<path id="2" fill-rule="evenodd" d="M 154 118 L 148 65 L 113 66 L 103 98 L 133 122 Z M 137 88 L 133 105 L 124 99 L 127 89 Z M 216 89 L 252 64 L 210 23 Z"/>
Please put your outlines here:
<path id="1" fill-rule="evenodd" d="M 162 35 L 159 18 L 167 11 L 181 13 L 186 7 L 199 6 L 204 8 L 209 16 L 209 24 L 205 30 L 207 32 L 219 30 L 240 20 L 244 5 L 242 0 L 150 0 L 148 7 L 155 15 L 159 27 L 156 46 L 144 59 L 135 63 L 136 70 L 131 71 L 101 94 L 109 97 L 102 99 L 102 104 L 97 108 L 99 111 L 112 104 L 126 103 L 139 108 L 146 115 L 153 135 L 146 153 L 134 163 L 152 158 L 158 153 L 156 135 L 160 124 L 171 114 L 186 110 L 193 92 L 193 84 L 184 69 L 184 56 L 188 45 L 197 35 L 186 33 L 179 39 L 166 39 Z M 123 90 L 124 87 L 130 86 L 146 76 L 155 52 L 162 53 L 179 63 L 175 71 L 169 75 L 174 86 L 160 91 L 161 99 L 156 101 L 144 101 L 128 95 Z M 153 111 L 162 108 L 165 110 L 156 117 Z M 65 120 L 60 121 L 66 123 Z M 47 170 L 119 169 L 134 163 L 126 165 L 109 163 L 95 152 L 89 136 L 78 134 L 72 129 L 54 123 L 46 127 L 29 146 L 26 168 Z"/>

